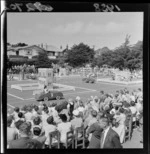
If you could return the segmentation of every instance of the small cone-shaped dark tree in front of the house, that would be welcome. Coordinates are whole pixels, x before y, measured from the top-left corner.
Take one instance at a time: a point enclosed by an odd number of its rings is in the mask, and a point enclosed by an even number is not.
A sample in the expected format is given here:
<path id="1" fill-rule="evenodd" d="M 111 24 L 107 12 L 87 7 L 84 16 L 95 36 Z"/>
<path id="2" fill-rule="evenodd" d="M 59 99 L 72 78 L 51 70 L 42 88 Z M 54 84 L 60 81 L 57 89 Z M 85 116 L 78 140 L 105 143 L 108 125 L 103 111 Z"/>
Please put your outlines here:
<path id="1" fill-rule="evenodd" d="M 39 52 L 39 55 L 37 57 L 37 61 L 35 62 L 36 67 L 38 68 L 50 68 L 51 67 L 51 61 L 48 58 L 47 52 Z"/>

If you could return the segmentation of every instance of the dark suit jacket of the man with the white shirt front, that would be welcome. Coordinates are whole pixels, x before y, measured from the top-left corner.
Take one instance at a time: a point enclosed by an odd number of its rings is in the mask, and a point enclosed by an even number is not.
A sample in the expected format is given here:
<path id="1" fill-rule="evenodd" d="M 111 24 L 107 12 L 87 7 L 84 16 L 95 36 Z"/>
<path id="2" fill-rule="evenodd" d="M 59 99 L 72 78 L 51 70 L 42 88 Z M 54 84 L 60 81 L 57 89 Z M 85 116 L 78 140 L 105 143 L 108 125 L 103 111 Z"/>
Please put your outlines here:
<path id="1" fill-rule="evenodd" d="M 118 134 L 110 128 L 103 145 L 103 149 L 121 149 L 122 145 L 120 143 L 120 139 Z"/>

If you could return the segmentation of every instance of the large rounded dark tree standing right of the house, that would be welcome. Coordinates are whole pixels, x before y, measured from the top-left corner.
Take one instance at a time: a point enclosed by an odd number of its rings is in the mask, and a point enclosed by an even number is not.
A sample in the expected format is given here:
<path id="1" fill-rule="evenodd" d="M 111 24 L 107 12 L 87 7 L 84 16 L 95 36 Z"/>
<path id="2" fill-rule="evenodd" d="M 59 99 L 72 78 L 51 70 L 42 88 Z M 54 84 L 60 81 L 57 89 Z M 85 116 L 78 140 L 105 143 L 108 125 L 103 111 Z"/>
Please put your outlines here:
<path id="1" fill-rule="evenodd" d="M 72 67 L 85 66 L 92 62 L 94 50 L 88 45 L 80 43 L 66 52 L 66 62 Z"/>

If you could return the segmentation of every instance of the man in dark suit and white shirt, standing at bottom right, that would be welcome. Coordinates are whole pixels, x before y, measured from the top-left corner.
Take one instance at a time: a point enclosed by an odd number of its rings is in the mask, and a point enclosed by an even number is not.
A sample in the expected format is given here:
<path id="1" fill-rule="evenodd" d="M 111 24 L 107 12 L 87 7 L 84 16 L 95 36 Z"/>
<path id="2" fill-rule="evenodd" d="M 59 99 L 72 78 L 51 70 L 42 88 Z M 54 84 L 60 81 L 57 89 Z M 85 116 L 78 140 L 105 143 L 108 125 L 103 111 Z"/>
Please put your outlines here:
<path id="1" fill-rule="evenodd" d="M 99 125 L 103 129 L 100 148 L 101 149 L 121 149 L 122 145 L 118 134 L 110 127 L 108 118 L 101 118 Z"/>

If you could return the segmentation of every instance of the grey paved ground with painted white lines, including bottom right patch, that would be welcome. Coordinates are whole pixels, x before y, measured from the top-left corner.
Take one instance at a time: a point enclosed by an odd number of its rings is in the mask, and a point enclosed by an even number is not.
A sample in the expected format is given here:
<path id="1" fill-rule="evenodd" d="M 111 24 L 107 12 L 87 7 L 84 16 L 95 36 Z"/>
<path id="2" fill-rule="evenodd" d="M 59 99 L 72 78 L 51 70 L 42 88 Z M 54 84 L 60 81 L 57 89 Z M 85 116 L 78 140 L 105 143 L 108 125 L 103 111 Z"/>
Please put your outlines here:
<path id="1" fill-rule="evenodd" d="M 27 104 L 38 104 L 33 95 L 33 90 L 29 91 L 20 91 L 17 89 L 12 89 L 12 84 L 22 84 L 22 83 L 35 83 L 38 81 L 24 80 L 24 81 L 8 81 L 7 82 L 7 109 L 13 110 L 14 107 L 22 107 Z M 76 98 L 80 96 L 83 101 L 86 101 L 90 96 L 99 96 L 101 90 L 114 94 L 116 90 L 127 88 L 129 91 L 132 91 L 137 88 L 142 88 L 142 84 L 136 85 L 119 85 L 111 83 L 102 83 L 96 82 L 94 84 L 84 83 L 81 77 L 66 77 L 57 79 L 57 83 L 70 85 L 75 87 L 75 91 L 63 92 L 66 100 L 69 98 Z M 56 102 L 56 100 L 50 100 Z M 49 102 L 50 102 L 49 101 Z M 62 100 L 60 100 L 62 101 Z M 47 102 L 47 103 L 49 103 Z M 123 144 L 124 148 L 143 148 L 143 144 L 140 143 L 140 133 L 137 130 L 134 130 L 133 137 L 131 141 L 126 141 Z"/>

